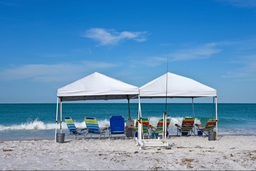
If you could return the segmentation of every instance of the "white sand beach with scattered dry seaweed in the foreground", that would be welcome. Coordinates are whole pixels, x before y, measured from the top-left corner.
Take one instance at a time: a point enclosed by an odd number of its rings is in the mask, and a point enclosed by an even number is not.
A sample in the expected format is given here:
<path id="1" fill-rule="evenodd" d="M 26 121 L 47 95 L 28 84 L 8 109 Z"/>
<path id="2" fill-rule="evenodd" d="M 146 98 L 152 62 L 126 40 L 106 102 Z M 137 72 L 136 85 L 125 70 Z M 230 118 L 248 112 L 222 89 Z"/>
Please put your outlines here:
<path id="1" fill-rule="evenodd" d="M 1 140 L 0 170 L 256 170 L 256 136 L 170 136 L 167 142 L 166 150 L 140 149 L 131 137 Z"/>

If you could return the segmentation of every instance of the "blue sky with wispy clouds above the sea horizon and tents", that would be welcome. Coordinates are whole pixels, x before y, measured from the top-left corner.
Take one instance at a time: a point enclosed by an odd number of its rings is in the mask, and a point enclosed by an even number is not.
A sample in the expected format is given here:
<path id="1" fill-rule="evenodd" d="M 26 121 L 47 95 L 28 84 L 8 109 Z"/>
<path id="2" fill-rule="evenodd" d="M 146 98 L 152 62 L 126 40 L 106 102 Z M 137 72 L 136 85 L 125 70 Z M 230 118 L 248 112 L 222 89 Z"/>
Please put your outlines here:
<path id="1" fill-rule="evenodd" d="M 254 0 L 0 0 L 0 23 L 0 103 L 56 103 L 94 72 L 141 87 L 166 73 L 167 53 L 168 72 L 217 89 L 218 103 L 256 103 Z"/>

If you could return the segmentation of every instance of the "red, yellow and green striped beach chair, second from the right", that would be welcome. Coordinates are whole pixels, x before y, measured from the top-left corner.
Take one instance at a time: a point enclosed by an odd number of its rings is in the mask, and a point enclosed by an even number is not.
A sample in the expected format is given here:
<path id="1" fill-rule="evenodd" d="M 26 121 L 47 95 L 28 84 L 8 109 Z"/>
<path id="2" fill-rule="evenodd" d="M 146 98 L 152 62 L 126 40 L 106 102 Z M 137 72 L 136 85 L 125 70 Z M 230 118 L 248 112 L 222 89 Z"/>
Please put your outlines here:
<path id="1" fill-rule="evenodd" d="M 180 136 L 181 135 L 190 136 L 192 132 L 194 132 L 193 131 L 194 122 L 195 122 L 195 118 L 183 118 L 181 127 L 178 124 L 175 124 L 175 126 L 177 127 L 177 135 L 178 135 L 178 132 L 180 132 Z M 191 133 L 189 134 L 189 132 Z"/>

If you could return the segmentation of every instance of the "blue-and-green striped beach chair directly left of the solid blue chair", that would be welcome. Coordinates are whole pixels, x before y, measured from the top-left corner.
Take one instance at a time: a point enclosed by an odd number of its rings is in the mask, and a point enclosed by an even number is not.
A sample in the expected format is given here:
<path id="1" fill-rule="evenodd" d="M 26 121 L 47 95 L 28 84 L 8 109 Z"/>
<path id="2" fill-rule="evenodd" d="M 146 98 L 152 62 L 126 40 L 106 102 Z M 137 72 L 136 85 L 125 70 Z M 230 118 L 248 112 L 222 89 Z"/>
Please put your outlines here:
<path id="1" fill-rule="evenodd" d="M 104 134 L 104 139 L 105 139 L 105 131 L 108 129 L 108 128 L 102 128 L 100 129 L 99 128 L 99 124 L 98 124 L 98 121 L 96 118 L 90 118 L 90 117 L 84 117 L 84 122 L 86 124 L 86 128 L 87 128 L 87 134 L 91 134 L 91 138 L 92 138 L 92 134 L 95 134 L 95 135 L 102 135 Z M 86 138 L 85 136 L 85 138 Z M 84 138 L 84 139 L 85 139 Z M 100 137 L 99 137 L 100 139 Z"/>

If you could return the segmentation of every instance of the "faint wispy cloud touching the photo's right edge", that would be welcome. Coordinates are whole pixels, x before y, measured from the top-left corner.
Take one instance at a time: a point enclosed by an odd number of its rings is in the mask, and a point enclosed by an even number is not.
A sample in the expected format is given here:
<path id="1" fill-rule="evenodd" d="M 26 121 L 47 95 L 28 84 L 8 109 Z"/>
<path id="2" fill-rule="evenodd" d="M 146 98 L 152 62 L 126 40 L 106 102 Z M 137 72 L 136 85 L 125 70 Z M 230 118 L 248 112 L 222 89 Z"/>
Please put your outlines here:
<path id="1" fill-rule="evenodd" d="M 256 81 L 256 55 L 246 56 L 231 61 L 233 64 L 240 64 L 243 67 L 228 71 L 223 78 L 236 78 L 239 81 Z"/>

